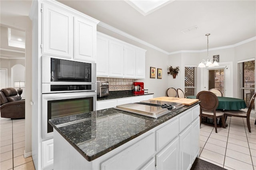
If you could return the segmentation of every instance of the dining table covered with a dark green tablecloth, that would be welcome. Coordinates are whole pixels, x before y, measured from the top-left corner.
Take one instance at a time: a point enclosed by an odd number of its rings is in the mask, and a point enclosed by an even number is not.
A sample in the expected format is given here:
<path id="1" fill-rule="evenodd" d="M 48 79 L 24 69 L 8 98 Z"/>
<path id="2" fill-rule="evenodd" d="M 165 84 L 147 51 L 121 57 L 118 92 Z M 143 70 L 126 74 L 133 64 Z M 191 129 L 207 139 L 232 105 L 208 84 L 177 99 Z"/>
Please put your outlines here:
<path id="1" fill-rule="evenodd" d="M 196 96 L 187 96 L 187 98 L 196 99 Z M 219 100 L 219 105 L 216 109 L 237 111 L 237 110 L 246 108 L 246 103 L 243 99 L 218 96 L 218 100 Z"/>

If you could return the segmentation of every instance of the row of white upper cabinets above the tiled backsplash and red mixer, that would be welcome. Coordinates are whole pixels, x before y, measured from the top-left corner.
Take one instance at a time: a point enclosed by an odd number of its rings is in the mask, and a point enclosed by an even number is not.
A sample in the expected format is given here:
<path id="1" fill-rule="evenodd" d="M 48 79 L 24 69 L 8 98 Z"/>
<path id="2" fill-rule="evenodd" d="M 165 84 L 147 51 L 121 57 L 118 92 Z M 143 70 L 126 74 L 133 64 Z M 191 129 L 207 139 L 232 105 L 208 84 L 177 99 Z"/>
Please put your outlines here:
<path id="1" fill-rule="evenodd" d="M 145 79 L 146 50 L 97 33 L 97 76 Z"/>

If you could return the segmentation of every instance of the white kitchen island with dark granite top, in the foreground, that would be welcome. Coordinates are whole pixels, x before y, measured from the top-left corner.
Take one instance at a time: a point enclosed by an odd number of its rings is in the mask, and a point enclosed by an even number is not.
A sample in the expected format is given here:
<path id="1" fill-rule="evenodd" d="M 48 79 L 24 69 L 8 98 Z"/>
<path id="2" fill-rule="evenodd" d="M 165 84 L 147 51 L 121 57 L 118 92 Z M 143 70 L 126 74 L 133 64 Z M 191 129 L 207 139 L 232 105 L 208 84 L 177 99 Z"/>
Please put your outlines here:
<path id="1" fill-rule="evenodd" d="M 49 120 L 54 170 L 189 169 L 199 154 L 199 105 L 158 119 L 114 108 Z"/>

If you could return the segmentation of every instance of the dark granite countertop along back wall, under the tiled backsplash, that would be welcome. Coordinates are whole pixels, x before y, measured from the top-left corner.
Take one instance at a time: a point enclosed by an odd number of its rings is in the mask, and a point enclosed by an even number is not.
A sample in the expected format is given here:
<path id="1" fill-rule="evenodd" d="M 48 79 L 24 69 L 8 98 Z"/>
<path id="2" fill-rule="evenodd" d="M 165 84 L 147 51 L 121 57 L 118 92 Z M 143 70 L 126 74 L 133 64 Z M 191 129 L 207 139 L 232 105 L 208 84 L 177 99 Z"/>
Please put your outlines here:
<path id="1" fill-rule="evenodd" d="M 108 96 L 97 97 L 97 101 L 108 100 L 108 99 L 118 99 L 118 98 L 124 98 L 124 97 L 142 96 L 142 95 L 153 95 L 153 94 L 154 93 L 134 94 L 132 93 L 132 90 L 109 91 Z"/>

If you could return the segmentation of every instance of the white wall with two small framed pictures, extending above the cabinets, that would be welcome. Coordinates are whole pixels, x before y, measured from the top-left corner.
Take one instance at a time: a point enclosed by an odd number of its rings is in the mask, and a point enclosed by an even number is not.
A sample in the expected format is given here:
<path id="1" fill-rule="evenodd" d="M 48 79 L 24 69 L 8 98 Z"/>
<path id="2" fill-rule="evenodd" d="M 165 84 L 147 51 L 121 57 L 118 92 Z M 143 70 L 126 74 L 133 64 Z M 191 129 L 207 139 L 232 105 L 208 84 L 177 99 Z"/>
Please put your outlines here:
<path id="1" fill-rule="evenodd" d="M 154 97 L 161 97 L 166 95 L 166 89 L 168 88 L 168 78 L 170 76 L 167 75 L 167 66 L 168 66 L 168 55 L 152 49 L 146 45 L 135 42 L 129 38 L 121 36 L 120 34 L 116 34 L 110 30 L 97 26 L 97 31 L 102 32 L 108 36 L 112 36 L 124 42 L 136 45 L 143 49 L 146 49 L 146 79 L 138 80 L 144 82 L 144 89 L 148 89 L 149 93 L 154 93 Z M 156 67 L 162 69 L 162 79 L 150 79 L 150 67 Z"/>

